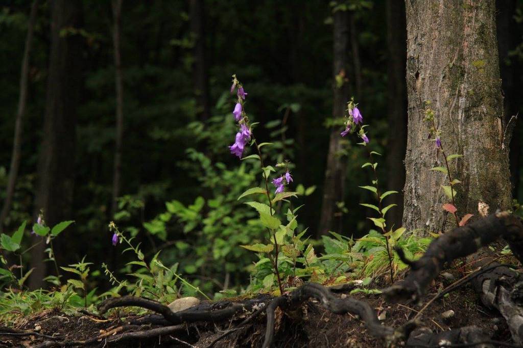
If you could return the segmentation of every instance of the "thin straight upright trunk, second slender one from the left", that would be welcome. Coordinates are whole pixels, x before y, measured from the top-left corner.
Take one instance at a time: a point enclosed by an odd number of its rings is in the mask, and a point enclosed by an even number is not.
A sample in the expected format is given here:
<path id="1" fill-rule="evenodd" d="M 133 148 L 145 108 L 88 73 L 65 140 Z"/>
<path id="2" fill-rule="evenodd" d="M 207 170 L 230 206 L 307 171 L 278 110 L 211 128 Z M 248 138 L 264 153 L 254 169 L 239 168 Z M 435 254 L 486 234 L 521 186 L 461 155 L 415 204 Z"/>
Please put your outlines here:
<path id="1" fill-rule="evenodd" d="M 122 170 L 122 140 L 123 140 L 123 80 L 122 62 L 120 55 L 120 28 L 121 28 L 122 0 L 112 0 L 113 31 L 112 41 L 115 55 L 115 81 L 116 81 L 116 147 L 115 162 L 112 179 L 112 206 L 111 218 L 115 215 L 120 196 L 120 178 Z"/>

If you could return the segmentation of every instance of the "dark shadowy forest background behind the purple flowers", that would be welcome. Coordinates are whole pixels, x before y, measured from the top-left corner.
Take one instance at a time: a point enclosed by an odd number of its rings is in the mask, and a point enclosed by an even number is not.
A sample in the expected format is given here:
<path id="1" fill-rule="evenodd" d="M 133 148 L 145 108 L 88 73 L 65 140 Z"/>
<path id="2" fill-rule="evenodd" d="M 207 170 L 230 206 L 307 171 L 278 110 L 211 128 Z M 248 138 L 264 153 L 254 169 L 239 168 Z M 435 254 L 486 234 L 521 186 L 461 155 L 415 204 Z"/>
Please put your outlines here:
<path id="1" fill-rule="evenodd" d="M 401 191 L 406 142 L 404 4 L 400 0 L 344 4 L 347 96 L 354 95 L 366 123 L 372 125 L 371 148 L 384 154 L 381 185 Z M 109 1 L 39 1 L 20 168 L 13 203 L 0 229 L 14 231 L 22 221 L 35 220 L 42 206 L 49 210 L 44 211 L 49 224 L 75 220 L 56 246 L 60 264 L 88 255 L 96 265 L 123 265 L 119 251 L 110 243 L 107 225 L 111 220 L 137 235 L 145 250 L 165 246 L 164 254 L 169 255 L 169 248 L 183 248 L 174 242 L 198 237 L 184 231 L 186 221 L 169 220 L 165 234 L 155 232 L 151 221 L 165 212 L 166 201 L 175 199 L 187 206 L 198 196 L 217 198 L 215 188 L 220 183 L 209 187 L 209 173 L 197 153 L 212 163 L 222 163 L 221 169 L 234 171 L 243 165 L 227 148 L 236 131 L 229 93 L 231 76 L 236 74 L 248 92 L 246 111 L 260 122 L 257 138 L 278 140 L 280 151 L 274 159 L 291 160 L 295 183 L 302 184 L 303 190 L 309 188 L 301 198 L 305 206 L 300 223 L 310 227 L 311 236 L 318 236 L 323 228 L 319 225 L 325 209 L 323 191 L 328 185 L 329 137 L 331 131 L 339 134 L 342 128 L 333 118 L 333 9 L 338 5 L 298 0 L 124 1 L 119 32 L 123 86 L 120 199 L 114 206 L 115 12 Z M 523 2 L 506 0 L 497 5 L 506 105 L 499 113 L 515 115 L 523 106 Z M 30 1 L 5 0 L 0 6 L 2 204 L 31 6 Z M 63 23 L 54 35 L 65 42 L 54 53 L 51 18 Z M 62 64 L 58 72 L 50 71 L 53 59 Z M 52 95 L 61 102 L 50 106 Z M 46 117 L 51 115 L 55 121 L 46 125 Z M 514 197 L 519 199 L 523 196 L 522 128 L 519 122 L 510 151 Z M 357 185 L 371 178 L 360 170 L 367 162 L 364 152 L 350 148 L 348 142 L 347 146 L 348 151 L 338 154 L 344 157 L 346 175 L 332 213 L 339 223 L 331 229 L 357 237 L 370 227 L 361 219 L 366 208 L 358 205 L 367 193 Z M 42 151 L 57 161 L 47 169 Z M 205 182 L 203 177 L 207 177 Z M 221 183 L 223 195 L 232 189 L 228 185 L 235 184 L 234 177 L 229 179 Z M 398 199 L 400 203 L 402 197 Z M 39 203 L 44 200 L 45 204 Z M 401 223 L 401 210 L 393 219 Z M 177 255 L 171 258 L 179 261 Z M 30 254 L 24 257 L 30 261 Z"/>

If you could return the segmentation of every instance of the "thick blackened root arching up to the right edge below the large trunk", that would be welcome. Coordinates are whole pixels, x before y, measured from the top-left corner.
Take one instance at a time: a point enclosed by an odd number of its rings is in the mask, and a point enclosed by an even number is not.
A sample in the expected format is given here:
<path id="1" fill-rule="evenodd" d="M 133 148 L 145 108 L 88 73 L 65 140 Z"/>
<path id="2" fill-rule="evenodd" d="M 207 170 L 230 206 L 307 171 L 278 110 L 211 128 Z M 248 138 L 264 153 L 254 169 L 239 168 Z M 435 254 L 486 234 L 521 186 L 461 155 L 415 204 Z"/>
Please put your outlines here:
<path id="1" fill-rule="evenodd" d="M 453 260 L 475 253 L 482 246 L 503 237 L 514 255 L 523 260 L 523 225 L 521 219 L 507 212 L 489 215 L 465 226 L 458 227 L 430 243 L 425 254 L 416 261 L 406 260 L 401 250 L 399 256 L 411 266 L 407 277 L 383 291 L 386 299 L 397 302 L 405 299 L 418 301 L 427 286 L 439 272 Z"/>

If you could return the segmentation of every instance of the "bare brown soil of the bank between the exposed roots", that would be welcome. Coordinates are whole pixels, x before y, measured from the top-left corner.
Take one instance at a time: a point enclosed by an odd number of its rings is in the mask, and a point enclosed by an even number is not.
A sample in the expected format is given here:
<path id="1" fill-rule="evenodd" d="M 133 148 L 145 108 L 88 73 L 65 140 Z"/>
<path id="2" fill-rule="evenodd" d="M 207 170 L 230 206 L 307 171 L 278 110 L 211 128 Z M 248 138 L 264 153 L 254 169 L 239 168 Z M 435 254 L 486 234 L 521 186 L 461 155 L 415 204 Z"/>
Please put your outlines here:
<path id="1" fill-rule="evenodd" d="M 456 279 L 461 278 L 457 272 L 454 276 Z M 422 303 L 425 304 L 450 283 L 452 281 L 442 276 L 438 277 L 427 291 Z M 345 295 L 347 294 L 336 294 L 337 297 Z M 376 310 L 380 320 L 383 319 L 383 324 L 390 327 L 401 326 L 408 319 L 412 319 L 417 310 L 423 307 L 423 305 L 414 308 L 410 305 L 408 307 L 401 304 L 389 305 L 380 295 L 376 294 L 357 293 L 351 296 L 367 301 Z M 448 310 L 453 310 L 454 315 L 445 319 L 442 314 Z M 244 319 L 235 317 L 222 322 L 179 325 L 174 332 L 155 335 L 153 338 L 131 338 L 108 342 L 108 338 L 116 339 L 115 336 L 123 331 L 143 331 L 144 327 L 130 325 L 131 320 L 135 318 L 137 316 L 122 309 L 111 311 L 108 319 L 88 314 L 68 316 L 62 314 L 58 309 L 46 310 L 13 322 L 10 327 L 25 330 L 25 333 L 0 333 L 0 347 L 63 346 L 56 344 L 56 341 L 85 341 L 96 337 L 101 338 L 89 346 L 207 347 L 223 332 L 238 327 L 238 324 Z M 432 303 L 423 311 L 420 319 L 423 321 L 423 326 L 430 328 L 433 332 L 475 325 L 484 332 L 492 334 L 493 340 L 510 342 L 510 332 L 503 317 L 497 311 L 485 308 L 470 285 L 464 285 Z M 160 326 L 149 325 L 146 329 L 155 327 Z M 266 316 L 262 312 L 249 325 L 233 331 L 216 342 L 214 346 L 259 347 L 264 341 L 265 329 Z M 54 337 L 54 339 L 46 338 L 43 335 Z M 51 344 L 53 341 L 55 343 Z M 285 314 L 280 309 L 277 310 L 273 345 L 276 347 L 381 347 L 385 344 L 369 335 L 358 318 L 350 314 L 332 314 L 320 303 L 311 299 L 294 311 L 287 310 Z"/>

